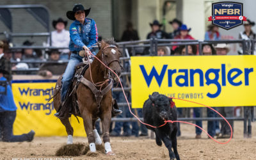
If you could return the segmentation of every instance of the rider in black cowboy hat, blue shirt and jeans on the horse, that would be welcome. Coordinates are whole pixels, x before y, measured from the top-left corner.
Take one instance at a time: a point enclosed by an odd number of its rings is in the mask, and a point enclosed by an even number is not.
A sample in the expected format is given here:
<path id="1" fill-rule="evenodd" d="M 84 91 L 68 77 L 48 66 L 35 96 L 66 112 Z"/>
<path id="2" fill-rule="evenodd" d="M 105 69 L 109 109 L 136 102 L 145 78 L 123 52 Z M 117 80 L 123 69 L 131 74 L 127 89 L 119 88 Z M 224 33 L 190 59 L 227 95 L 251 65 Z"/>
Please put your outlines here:
<path id="1" fill-rule="evenodd" d="M 98 41 L 98 31 L 96 23 L 93 19 L 86 18 L 90 13 L 91 8 L 84 10 L 82 4 L 75 4 L 72 11 L 67 12 L 67 18 L 74 20 L 70 25 L 70 43 L 69 50 L 71 51 L 70 60 L 68 61 L 67 68 L 61 79 L 61 106 L 64 104 L 64 100 L 67 95 L 68 88 L 70 87 L 72 77 L 75 74 L 75 67 L 78 63 L 83 61 L 83 57 L 79 55 L 79 51 L 84 50 L 85 55 L 93 51 L 92 45 Z M 88 60 L 90 61 L 90 60 Z M 61 108 L 61 107 L 60 107 Z M 60 111 L 59 108 L 59 111 Z M 122 113 L 119 109 L 114 109 L 113 113 Z M 54 116 L 59 116 L 57 112 Z"/>

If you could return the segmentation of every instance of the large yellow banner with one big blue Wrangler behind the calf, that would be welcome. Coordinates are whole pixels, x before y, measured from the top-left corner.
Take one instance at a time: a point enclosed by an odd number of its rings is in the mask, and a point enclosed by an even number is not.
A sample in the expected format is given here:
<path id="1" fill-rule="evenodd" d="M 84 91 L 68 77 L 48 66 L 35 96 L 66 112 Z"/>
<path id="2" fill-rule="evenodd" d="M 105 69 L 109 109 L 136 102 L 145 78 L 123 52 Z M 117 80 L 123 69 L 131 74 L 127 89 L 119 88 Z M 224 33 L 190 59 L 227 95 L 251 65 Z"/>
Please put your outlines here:
<path id="1" fill-rule="evenodd" d="M 153 92 L 207 106 L 255 106 L 255 67 L 253 55 L 132 57 L 132 108 L 142 108 Z"/>

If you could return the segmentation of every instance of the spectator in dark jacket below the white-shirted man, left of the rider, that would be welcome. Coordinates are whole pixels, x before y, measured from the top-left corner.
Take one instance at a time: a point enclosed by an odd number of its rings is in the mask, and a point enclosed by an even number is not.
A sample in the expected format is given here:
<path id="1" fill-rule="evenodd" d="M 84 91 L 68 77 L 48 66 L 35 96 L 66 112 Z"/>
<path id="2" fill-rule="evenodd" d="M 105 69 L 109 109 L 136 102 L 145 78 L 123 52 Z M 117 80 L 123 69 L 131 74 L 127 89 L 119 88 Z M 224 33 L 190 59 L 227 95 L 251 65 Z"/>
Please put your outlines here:
<path id="1" fill-rule="evenodd" d="M 49 52 L 49 61 L 52 63 L 44 63 L 41 65 L 38 74 L 43 77 L 50 78 L 52 75 L 61 75 L 65 72 L 67 63 L 60 61 L 60 52 L 58 49 L 52 49 Z"/>

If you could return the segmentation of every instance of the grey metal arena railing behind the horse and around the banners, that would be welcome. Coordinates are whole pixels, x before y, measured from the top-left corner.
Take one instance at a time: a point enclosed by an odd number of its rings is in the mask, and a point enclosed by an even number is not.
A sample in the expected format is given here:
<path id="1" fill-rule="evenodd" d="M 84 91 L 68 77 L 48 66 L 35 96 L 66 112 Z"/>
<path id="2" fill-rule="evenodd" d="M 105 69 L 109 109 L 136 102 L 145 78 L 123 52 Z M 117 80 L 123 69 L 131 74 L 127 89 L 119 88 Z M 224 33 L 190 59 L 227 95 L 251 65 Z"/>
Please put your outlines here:
<path id="1" fill-rule="evenodd" d="M 251 43 L 252 45 L 246 45 L 246 43 Z M 149 47 L 150 54 L 148 56 L 155 56 L 157 55 L 157 47 L 158 46 L 169 46 L 172 47 L 173 45 L 185 45 L 186 47 L 186 53 L 188 53 L 188 45 L 198 45 L 198 53 L 202 55 L 202 45 L 203 44 L 241 44 L 243 49 L 243 54 L 253 54 L 255 50 L 255 43 L 256 40 L 218 40 L 218 41 L 212 41 L 212 40 L 159 40 L 159 39 L 150 39 L 150 40 L 136 40 L 131 42 L 119 42 L 118 45 L 123 50 L 124 57 L 120 58 L 120 61 L 122 63 L 125 63 L 125 61 L 129 61 L 129 65 L 131 65 L 131 58 L 130 55 L 134 54 L 134 48 L 138 47 Z M 250 48 L 248 48 L 250 47 Z M 24 49 L 28 48 L 26 47 L 12 47 L 12 49 Z M 56 47 L 42 47 L 42 46 L 31 46 L 32 49 L 60 49 Z M 63 48 L 61 48 L 63 49 Z M 129 52 L 133 52 L 132 54 Z M 247 52 L 250 51 L 250 52 Z M 51 63 L 51 61 L 12 61 L 12 63 Z M 60 61 L 59 63 L 67 63 L 68 61 Z M 39 70 L 38 68 L 30 68 L 29 70 Z M 19 71 L 26 71 L 26 70 L 13 70 L 14 72 Z M 27 70 L 28 71 L 28 70 Z M 131 93 L 131 83 L 129 81 L 131 72 L 129 72 L 129 68 L 127 71 L 123 72 L 121 74 L 123 78 L 128 81 L 128 86 L 124 88 L 125 92 Z M 121 88 L 113 88 L 113 92 L 122 92 Z M 129 102 L 129 105 L 131 106 L 131 102 Z M 118 106 L 125 107 L 127 106 L 126 102 L 118 102 Z M 134 109 L 136 113 L 136 109 Z M 124 111 L 125 115 L 125 111 Z M 138 114 L 136 114 L 138 115 Z M 243 118 L 237 118 L 237 117 L 228 117 L 227 120 L 240 120 L 240 121 L 246 121 L 248 117 Z M 255 118 L 254 118 L 255 119 Z M 143 120 L 143 118 L 140 118 L 140 120 Z M 178 120 L 183 121 L 196 121 L 196 120 L 222 120 L 222 118 L 216 117 L 216 118 L 210 118 L 210 117 L 200 117 L 200 118 L 178 118 Z M 137 121 L 136 118 L 112 118 L 112 121 L 114 122 L 135 122 Z M 244 127 L 245 129 L 246 127 Z"/>

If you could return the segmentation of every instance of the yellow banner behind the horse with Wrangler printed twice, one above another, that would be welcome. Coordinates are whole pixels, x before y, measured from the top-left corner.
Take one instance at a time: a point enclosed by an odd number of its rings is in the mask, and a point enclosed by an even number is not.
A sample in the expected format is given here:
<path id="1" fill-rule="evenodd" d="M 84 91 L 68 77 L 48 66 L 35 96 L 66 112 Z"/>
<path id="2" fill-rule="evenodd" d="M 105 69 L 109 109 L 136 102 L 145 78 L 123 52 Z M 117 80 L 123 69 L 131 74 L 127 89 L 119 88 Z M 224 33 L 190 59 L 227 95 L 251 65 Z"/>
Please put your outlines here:
<path id="1" fill-rule="evenodd" d="M 53 91 L 47 91 L 55 87 L 55 83 L 42 80 L 13 81 L 12 91 L 15 104 L 17 106 L 17 116 L 13 124 L 13 133 L 23 134 L 33 129 L 36 136 L 67 136 L 67 132 L 60 120 L 53 114 L 56 113 L 52 100 L 47 104 L 47 100 L 52 97 Z M 70 118 L 74 128 L 74 136 L 86 136 L 83 120 Z"/>

